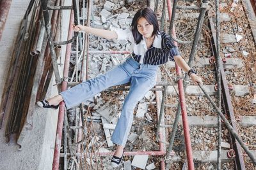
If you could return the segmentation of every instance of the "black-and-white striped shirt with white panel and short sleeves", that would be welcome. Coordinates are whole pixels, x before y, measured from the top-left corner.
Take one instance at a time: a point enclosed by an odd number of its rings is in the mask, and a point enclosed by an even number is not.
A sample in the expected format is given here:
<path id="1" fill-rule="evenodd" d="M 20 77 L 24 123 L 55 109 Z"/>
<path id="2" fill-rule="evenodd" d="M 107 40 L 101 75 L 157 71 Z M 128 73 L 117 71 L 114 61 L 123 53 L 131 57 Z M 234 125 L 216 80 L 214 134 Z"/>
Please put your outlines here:
<path id="1" fill-rule="evenodd" d="M 153 44 L 147 48 L 145 39 L 141 39 L 140 43 L 136 44 L 131 31 L 122 29 L 114 30 L 118 39 L 127 39 L 131 45 L 131 55 L 140 64 L 160 65 L 168 61 L 173 61 L 175 55 L 180 55 L 177 46 L 174 45 L 172 38 L 165 32 L 158 32 Z"/>

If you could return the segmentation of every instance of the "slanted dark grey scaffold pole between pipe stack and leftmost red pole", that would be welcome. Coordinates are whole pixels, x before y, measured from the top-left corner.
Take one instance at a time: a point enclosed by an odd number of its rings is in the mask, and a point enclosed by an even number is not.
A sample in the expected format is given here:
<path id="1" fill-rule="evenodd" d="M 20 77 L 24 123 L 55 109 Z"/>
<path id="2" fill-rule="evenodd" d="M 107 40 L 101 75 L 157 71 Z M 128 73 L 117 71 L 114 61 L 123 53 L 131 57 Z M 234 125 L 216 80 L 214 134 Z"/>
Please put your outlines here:
<path id="1" fill-rule="evenodd" d="M 47 33 L 49 48 L 50 48 L 50 52 L 51 52 L 51 59 L 52 59 L 52 66 L 53 66 L 54 74 L 55 74 L 55 81 L 56 81 L 56 84 L 58 85 L 58 91 L 60 92 L 59 84 L 61 83 L 61 79 L 60 79 L 60 72 L 58 69 L 58 64 L 57 64 L 57 59 L 56 59 L 56 53 L 53 48 L 51 22 L 50 22 L 49 12 L 47 10 L 48 0 L 45 0 L 45 1 L 41 0 L 41 4 L 42 4 L 43 13 L 44 13 L 45 30 Z"/>

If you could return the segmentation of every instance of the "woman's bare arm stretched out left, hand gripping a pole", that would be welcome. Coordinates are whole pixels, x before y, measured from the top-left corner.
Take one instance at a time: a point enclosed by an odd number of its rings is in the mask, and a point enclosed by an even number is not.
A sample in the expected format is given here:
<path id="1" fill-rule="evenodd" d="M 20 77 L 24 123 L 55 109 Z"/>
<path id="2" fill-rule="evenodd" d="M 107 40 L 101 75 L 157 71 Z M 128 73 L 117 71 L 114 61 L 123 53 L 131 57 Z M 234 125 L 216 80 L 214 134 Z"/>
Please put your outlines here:
<path id="1" fill-rule="evenodd" d="M 109 31 L 109 30 L 105 30 L 105 29 L 95 29 L 92 27 L 84 26 L 84 25 L 73 25 L 73 30 L 76 32 L 77 31 L 88 32 L 90 34 L 94 34 L 95 36 L 100 36 L 100 37 L 106 38 L 106 39 L 117 38 L 115 31 Z"/>

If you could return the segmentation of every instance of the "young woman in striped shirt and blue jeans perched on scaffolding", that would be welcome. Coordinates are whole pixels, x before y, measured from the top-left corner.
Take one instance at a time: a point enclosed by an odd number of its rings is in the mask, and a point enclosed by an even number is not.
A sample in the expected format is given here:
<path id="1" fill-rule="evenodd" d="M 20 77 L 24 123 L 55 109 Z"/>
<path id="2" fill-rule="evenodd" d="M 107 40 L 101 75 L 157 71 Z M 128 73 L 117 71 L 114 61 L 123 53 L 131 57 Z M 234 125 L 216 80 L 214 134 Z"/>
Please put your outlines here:
<path id="1" fill-rule="evenodd" d="M 158 66 L 166 63 L 168 59 L 175 60 L 177 65 L 189 74 L 193 83 L 202 83 L 202 80 L 180 57 L 178 48 L 170 36 L 159 31 L 156 15 L 150 8 L 138 10 L 132 19 L 131 30 L 108 31 L 76 25 L 74 31 L 85 31 L 106 39 L 127 39 L 132 43 L 131 56 L 107 73 L 84 81 L 47 101 L 38 101 L 37 104 L 42 108 L 58 108 L 58 104 L 64 101 L 69 109 L 104 89 L 130 82 L 131 89 L 125 98 L 122 114 L 111 137 L 111 141 L 117 145 L 111 159 L 112 166 L 116 167 L 120 165 L 123 157 L 124 146 L 131 130 L 133 110 L 138 101 L 156 84 Z"/>

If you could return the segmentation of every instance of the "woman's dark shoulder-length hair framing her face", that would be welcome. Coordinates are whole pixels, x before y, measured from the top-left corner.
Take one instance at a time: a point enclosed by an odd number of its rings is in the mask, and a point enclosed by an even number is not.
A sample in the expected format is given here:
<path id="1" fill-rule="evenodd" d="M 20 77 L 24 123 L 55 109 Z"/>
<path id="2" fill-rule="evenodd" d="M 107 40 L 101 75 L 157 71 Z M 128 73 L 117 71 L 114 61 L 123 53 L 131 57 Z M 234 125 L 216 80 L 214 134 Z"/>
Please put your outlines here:
<path id="1" fill-rule="evenodd" d="M 136 44 L 140 43 L 142 39 L 142 35 L 140 34 L 137 28 L 138 20 L 141 17 L 145 18 L 150 25 L 154 26 L 154 31 L 152 32 L 151 36 L 156 35 L 157 32 L 159 31 L 159 25 L 158 25 L 156 14 L 154 13 L 154 11 L 148 7 L 138 10 L 132 19 L 132 25 L 131 25 L 132 35 Z"/>

